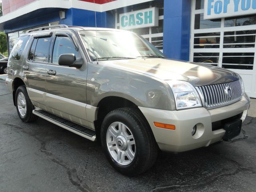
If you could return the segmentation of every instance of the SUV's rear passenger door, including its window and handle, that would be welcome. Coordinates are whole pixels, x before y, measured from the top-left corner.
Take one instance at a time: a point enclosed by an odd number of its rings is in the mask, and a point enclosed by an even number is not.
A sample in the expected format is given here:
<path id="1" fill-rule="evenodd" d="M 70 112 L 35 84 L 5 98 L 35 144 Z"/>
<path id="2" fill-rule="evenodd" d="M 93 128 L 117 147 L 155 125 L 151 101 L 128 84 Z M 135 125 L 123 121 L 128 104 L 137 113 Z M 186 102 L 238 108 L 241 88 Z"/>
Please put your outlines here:
<path id="1" fill-rule="evenodd" d="M 27 81 L 30 100 L 35 106 L 46 110 L 46 65 L 49 62 L 52 33 L 36 34 L 23 63 L 22 70 Z"/>

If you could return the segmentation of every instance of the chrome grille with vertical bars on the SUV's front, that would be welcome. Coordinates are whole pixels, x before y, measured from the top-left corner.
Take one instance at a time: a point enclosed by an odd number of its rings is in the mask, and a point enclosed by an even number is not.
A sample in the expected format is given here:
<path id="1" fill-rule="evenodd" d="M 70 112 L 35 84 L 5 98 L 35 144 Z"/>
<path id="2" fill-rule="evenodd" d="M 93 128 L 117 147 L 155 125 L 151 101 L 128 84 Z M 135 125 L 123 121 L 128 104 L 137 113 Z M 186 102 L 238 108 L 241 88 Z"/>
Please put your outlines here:
<path id="1" fill-rule="evenodd" d="M 230 98 L 225 93 L 226 87 L 230 87 L 232 90 Z M 201 92 L 202 102 L 207 109 L 229 105 L 242 98 L 242 88 L 239 80 L 223 84 L 199 86 L 197 90 L 199 93 Z"/>

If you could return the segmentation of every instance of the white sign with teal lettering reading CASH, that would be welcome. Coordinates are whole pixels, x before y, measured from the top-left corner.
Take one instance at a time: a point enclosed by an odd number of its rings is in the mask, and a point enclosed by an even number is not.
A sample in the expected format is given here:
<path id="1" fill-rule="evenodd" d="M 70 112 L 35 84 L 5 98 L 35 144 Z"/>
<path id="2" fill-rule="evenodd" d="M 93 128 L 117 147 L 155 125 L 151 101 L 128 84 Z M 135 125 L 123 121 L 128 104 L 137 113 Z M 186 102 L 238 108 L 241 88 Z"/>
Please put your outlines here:
<path id="1" fill-rule="evenodd" d="M 120 29 L 135 29 L 158 26 L 158 8 L 128 12 L 119 15 Z"/>

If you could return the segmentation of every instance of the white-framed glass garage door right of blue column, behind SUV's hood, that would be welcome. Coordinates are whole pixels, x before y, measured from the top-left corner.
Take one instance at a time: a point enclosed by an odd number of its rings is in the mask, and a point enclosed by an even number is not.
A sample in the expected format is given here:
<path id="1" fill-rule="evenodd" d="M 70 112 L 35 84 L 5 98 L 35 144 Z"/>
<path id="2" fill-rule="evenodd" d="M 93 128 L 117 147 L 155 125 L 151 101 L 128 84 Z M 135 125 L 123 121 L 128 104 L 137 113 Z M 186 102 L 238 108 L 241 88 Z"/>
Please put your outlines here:
<path id="1" fill-rule="evenodd" d="M 247 82 L 248 95 L 256 97 L 256 13 L 246 16 L 234 13 L 233 17 L 204 20 L 204 1 L 191 0 L 190 61 L 237 72 Z M 221 4 L 225 0 L 214 2 Z M 208 1 L 213 6 L 214 2 Z M 242 2 L 249 4 L 252 1 Z"/>

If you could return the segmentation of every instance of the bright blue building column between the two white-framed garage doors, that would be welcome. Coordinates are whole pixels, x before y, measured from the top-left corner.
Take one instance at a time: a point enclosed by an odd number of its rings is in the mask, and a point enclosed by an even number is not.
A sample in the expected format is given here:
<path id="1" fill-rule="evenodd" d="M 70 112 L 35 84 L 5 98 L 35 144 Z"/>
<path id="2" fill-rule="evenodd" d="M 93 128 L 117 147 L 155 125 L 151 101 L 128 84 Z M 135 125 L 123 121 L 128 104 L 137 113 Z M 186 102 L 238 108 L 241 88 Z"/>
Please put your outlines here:
<path id="1" fill-rule="evenodd" d="M 191 0 L 164 0 L 164 54 L 189 60 Z"/>

